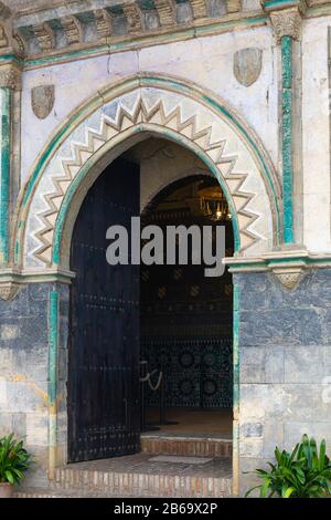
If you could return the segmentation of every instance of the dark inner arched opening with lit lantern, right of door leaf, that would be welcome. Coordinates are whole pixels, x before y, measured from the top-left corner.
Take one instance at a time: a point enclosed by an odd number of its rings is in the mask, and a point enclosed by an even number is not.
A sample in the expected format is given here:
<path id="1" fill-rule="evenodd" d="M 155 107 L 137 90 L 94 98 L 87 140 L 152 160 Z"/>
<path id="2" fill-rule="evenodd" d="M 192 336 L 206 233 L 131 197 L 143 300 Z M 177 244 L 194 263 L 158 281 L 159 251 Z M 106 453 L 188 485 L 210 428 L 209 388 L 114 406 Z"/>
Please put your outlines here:
<path id="1" fill-rule="evenodd" d="M 161 190 L 142 214 L 143 226 L 225 228 L 233 254 L 231 215 L 217 180 L 191 175 Z M 166 232 L 164 232 L 166 235 Z M 191 243 L 192 247 L 192 243 Z M 166 253 L 164 253 L 166 256 Z M 140 361 L 146 435 L 232 437 L 232 277 L 205 277 L 205 266 L 141 266 Z"/>

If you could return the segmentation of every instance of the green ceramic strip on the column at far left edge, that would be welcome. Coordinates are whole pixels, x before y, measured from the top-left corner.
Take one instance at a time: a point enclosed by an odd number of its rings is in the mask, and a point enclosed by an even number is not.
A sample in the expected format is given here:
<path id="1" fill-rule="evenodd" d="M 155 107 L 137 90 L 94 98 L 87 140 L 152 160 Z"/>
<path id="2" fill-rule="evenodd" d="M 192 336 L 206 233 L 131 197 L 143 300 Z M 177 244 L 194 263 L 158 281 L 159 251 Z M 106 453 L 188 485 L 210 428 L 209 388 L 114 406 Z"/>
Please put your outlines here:
<path id="1" fill-rule="evenodd" d="M 0 89 L 0 263 L 9 259 L 10 89 Z"/>

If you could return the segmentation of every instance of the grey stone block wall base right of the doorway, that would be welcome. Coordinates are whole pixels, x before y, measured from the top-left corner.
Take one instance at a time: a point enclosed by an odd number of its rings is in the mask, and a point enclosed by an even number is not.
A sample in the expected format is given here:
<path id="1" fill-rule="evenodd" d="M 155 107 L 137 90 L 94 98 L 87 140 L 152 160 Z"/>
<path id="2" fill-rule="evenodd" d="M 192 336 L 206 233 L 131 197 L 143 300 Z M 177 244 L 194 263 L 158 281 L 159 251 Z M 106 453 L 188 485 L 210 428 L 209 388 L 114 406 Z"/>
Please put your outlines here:
<path id="1" fill-rule="evenodd" d="M 242 493 L 276 446 L 303 434 L 331 455 L 331 270 L 311 271 L 295 290 L 271 274 L 234 275 L 241 291 L 239 456 Z"/>

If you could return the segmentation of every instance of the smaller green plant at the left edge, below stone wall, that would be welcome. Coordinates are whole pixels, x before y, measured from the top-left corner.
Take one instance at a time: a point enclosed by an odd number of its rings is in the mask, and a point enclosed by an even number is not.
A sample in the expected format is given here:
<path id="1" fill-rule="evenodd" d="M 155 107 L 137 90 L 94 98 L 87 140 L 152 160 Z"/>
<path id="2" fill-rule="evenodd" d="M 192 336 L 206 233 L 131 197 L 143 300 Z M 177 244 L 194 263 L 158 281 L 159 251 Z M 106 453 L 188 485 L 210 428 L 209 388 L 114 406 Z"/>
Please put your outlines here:
<path id="1" fill-rule="evenodd" d="M 30 465 L 31 456 L 23 448 L 23 440 L 17 443 L 13 434 L 0 439 L 0 482 L 19 482 Z"/>

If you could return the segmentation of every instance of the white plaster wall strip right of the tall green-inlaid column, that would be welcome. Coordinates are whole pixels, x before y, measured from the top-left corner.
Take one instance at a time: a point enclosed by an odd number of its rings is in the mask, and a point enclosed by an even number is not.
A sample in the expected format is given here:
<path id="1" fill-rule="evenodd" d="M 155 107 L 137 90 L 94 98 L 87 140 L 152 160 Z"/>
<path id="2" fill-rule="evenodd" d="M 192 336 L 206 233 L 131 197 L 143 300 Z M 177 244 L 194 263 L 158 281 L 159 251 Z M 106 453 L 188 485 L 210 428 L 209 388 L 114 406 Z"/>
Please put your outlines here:
<path id="1" fill-rule="evenodd" d="M 329 25 L 324 17 L 302 29 L 303 242 L 316 252 L 331 251 Z"/>

